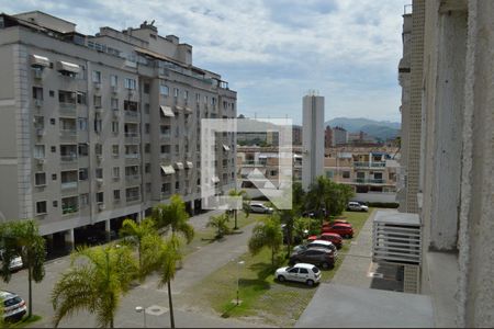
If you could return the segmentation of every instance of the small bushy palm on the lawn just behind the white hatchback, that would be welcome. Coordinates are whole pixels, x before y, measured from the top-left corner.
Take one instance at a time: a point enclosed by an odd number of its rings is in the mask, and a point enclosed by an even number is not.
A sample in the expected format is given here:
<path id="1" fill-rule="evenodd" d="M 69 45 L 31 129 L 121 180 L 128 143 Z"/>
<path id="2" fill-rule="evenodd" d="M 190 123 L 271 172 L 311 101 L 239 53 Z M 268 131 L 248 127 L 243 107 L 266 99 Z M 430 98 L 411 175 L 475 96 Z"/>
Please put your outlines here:
<path id="1" fill-rule="evenodd" d="M 265 247 L 271 249 L 271 265 L 274 265 L 274 256 L 282 243 L 283 232 L 281 231 L 280 218 L 274 214 L 263 218 L 254 227 L 248 247 L 251 254 L 259 253 Z"/>

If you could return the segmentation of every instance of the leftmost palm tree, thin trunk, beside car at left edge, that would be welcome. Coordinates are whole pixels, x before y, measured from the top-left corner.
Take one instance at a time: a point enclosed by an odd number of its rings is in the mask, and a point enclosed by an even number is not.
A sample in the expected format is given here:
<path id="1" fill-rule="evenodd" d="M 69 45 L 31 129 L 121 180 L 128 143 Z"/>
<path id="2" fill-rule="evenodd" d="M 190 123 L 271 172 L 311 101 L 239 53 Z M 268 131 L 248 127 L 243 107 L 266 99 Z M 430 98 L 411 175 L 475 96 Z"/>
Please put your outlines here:
<path id="1" fill-rule="evenodd" d="M 10 262 L 15 257 L 22 258 L 27 269 L 29 304 L 27 317 L 33 315 L 33 280 L 38 283 L 45 276 L 45 239 L 40 235 L 37 223 L 30 220 L 12 220 L 0 225 L 0 249 L 3 250 L 1 276 L 9 282 Z"/>

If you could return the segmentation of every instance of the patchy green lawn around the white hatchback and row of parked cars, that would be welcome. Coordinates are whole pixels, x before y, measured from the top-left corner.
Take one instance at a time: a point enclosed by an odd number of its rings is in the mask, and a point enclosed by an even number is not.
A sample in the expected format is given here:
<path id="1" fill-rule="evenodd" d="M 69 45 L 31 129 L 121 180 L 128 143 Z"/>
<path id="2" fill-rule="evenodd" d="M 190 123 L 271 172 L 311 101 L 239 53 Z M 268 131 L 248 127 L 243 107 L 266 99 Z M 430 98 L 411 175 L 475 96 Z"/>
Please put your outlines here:
<path id="1" fill-rule="evenodd" d="M 338 218 L 345 217 L 352 224 L 356 238 L 372 211 L 371 208 L 369 213 L 345 212 Z M 282 254 L 285 254 L 287 248 L 283 247 Z M 350 240 L 344 240 L 335 269 L 323 271 L 323 282 L 332 280 L 349 248 Z M 240 260 L 245 261 L 244 265 L 237 264 Z M 312 299 L 316 287 L 299 283 L 281 284 L 274 281 L 274 270 L 284 264 L 287 260 L 280 260 L 279 264 L 272 266 L 268 249 L 255 257 L 245 253 L 240 259 L 206 276 L 192 290 L 202 306 L 213 308 L 223 317 L 247 317 L 263 324 L 293 327 Z M 242 300 L 238 306 L 232 303 L 236 299 L 237 277 Z"/>

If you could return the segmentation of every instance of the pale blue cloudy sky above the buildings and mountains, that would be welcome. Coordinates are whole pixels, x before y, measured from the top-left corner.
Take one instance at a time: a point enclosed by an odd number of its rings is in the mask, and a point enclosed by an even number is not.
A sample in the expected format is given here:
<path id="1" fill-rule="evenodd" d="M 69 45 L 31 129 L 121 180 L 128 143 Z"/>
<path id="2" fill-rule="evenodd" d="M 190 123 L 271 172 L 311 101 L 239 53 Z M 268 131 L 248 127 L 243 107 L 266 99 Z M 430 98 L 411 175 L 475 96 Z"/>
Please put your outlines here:
<path id="1" fill-rule="evenodd" d="M 193 46 L 194 65 L 238 92 L 238 113 L 292 117 L 302 97 L 325 97 L 326 120 L 400 121 L 402 14 L 411 0 L 9 1 L 9 14 L 41 10 L 85 34 L 155 20 L 161 35 Z"/>

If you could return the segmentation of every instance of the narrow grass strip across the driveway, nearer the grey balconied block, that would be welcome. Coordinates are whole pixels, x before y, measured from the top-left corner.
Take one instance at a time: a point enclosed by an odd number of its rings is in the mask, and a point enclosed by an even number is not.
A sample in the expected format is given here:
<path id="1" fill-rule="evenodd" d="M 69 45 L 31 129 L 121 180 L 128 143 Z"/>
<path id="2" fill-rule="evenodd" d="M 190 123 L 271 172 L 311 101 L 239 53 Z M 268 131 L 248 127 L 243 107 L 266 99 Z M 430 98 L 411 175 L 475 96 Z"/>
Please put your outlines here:
<path id="1" fill-rule="evenodd" d="M 266 216 L 266 215 L 250 214 L 248 217 L 246 217 L 244 213 L 238 213 L 238 216 L 237 216 L 238 228 L 242 230 L 243 227 L 245 227 L 249 224 L 252 224 L 256 220 L 261 219 L 263 216 Z M 235 225 L 235 219 L 231 218 L 229 227 L 233 229 L 234 225 Z M 181 249 L 183 252 L 183 257 L 187 257 L 191 252 L 194 252 L 195 250 L 198 250 L 209 243 L 213 243 L 215 241 L 215 239 L 214 239 L 215 235 L 216 235 L 216 231 L 214 228 L 206 227 L 206 228 L 195 230 L 194 238 L 189 245 L 187 245 L 186 240 L 182 239 Z M 234 235 L 234 234 L 232 234 L 232 235 Z M 225 236 L 224 238 L 228 238 L 228 235 Z"/>

